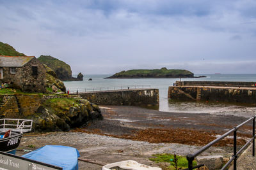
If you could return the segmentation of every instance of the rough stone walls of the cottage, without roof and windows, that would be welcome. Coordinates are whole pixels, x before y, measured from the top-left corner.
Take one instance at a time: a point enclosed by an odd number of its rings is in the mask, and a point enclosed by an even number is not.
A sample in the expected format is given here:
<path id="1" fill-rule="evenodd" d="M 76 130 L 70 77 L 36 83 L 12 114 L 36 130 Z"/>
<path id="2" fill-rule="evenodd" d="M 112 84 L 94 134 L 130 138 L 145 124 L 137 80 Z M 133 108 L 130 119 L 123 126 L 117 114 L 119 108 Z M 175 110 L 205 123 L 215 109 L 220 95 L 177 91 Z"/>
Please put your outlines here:
<path id="1" fill-rule="evenodd" d="M 36 75 L 33 75 L 32 67 L 37 67 Z M 25 92 L 46 91 L 45 67 L 34 57 L 22 67 L 15 67 L 15 74 L 10 73 L 10 67 L 3 67 L 3 79 L 1 83 L 8 83 Z"/>

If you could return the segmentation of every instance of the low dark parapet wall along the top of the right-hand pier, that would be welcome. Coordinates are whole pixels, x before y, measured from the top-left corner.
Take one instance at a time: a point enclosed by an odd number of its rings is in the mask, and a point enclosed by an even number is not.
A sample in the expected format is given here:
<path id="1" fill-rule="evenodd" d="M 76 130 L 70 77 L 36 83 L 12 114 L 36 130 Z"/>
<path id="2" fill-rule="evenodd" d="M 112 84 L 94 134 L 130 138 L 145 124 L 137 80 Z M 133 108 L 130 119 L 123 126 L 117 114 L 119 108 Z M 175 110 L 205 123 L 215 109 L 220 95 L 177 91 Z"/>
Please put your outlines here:
<path id="1" fill-rule="evenodd" d="M 225 87 L 255 87 L 256 82 L 246 81 L 176 81 L 177 86 L 225 86 Z"/>

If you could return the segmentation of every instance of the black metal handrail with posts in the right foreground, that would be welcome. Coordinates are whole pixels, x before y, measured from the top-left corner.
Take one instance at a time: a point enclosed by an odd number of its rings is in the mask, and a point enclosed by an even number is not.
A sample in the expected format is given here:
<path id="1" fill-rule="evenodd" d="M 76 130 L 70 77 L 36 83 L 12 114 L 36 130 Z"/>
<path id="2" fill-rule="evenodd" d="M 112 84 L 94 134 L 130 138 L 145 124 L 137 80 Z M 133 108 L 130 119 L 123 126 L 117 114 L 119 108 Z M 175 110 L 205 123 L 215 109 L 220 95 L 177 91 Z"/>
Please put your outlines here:
<path id="1" fill-rule="evenodd" d="M 228 160 L 227 164 L 225 164 L 221 170 L 227 168 L 233 161 L 234 161 L 234 170 L 236 170 L 236 167 L 237 167 L 237 158 L 238 158 L 238 155 L 240 153 L 243 152 L 243 150 L 248 146 L 250 145 L 250 143 L 252 142 L 252 156 L 254 157 L 255 156 L 255 117 L 252 117 L 252 118 L 249 118 L 248 120 L 246 120 L 245 122 L 243 122 L 242 124 L 239 124 L 237 125 L 236 127 L 233 127 L 230 131 L 226 132 L 225 134 L 223 134 L 222 136 L 220 136 L 219 138 L 217 139 L 214 139 L 213 141 L 211 141 L 210 143 L 208 143 L 207 145 L 205 145 L 204 147 L 200 148 L 200 150 L 196 151 L 195 153 L 193 154 L 188 154 L 187 155 L 187 159 L 188 159 L 188 169 L 189 170 L 192 170 L 193 168 L 193 160 L 195 159 L 195 157 L 197 157 L 198 155 L 200 155 L 200 153 L 204 152 L 205 150 L 207 150 L 208 148 L 210 148 L 212 145 L 214 145 L 215 143 L 217 143 L 218 141 L 220 141 L 221 139 L 223 138 L 226 138 L 229 134 L 231 134 L 232 132 L 234 132 L 233 136 L 233 155 L 231 157 L 230 160 Z M 250 122 L 252 120 L 252 138 L 250 138 L 250 140 L 240 148 L 240 150 L 237 152 L 237 129 L 239 127 L 241 127 L 242 125 Z"/>

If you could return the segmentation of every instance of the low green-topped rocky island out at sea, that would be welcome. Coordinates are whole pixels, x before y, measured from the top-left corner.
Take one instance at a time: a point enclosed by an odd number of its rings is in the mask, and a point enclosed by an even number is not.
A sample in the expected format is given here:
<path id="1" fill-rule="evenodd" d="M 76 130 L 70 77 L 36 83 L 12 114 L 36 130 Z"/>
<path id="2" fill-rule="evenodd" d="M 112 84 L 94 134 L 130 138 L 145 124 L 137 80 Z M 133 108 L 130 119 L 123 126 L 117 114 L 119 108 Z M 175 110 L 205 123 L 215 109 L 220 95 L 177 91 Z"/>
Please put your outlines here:
<path id="1" fill-rule="evenodd" d="M 194 78 L 194 73 L 185 69 L 131 69 L 107 78 Z"/>

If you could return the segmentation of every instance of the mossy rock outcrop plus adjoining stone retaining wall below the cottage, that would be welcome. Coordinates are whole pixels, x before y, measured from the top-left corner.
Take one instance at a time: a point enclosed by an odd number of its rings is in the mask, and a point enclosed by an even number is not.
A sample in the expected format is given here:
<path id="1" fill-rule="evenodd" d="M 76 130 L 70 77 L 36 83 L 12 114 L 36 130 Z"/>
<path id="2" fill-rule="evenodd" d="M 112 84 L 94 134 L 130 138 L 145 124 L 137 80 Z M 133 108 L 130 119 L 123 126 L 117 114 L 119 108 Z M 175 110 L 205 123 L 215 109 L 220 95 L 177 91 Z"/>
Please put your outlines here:
<path id="1" fill-rule="evenodd" d="M 1 118 L 33 119 L 33 131 L 69 131 L 102 119 L 97 105 L 79 96 L 42 94 L 0 95 Z"/>

